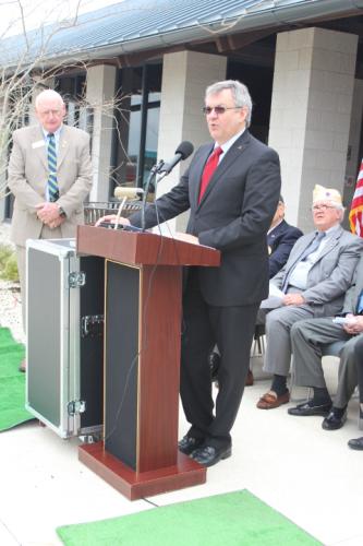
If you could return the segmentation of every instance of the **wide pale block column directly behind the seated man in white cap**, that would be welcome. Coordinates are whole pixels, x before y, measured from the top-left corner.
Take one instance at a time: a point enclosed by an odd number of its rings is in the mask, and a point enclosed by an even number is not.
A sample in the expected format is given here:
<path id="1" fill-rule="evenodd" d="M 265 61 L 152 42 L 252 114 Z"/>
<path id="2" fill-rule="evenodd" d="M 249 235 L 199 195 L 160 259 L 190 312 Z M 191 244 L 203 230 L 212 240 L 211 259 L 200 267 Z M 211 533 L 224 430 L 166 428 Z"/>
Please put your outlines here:
<path id="1" fill-rule="evenodd" d="M 358 36 L 323 28 L 277 37 L 269 144 L 288 219 L 308 232 L 315 183 L 343 191 Z"/>

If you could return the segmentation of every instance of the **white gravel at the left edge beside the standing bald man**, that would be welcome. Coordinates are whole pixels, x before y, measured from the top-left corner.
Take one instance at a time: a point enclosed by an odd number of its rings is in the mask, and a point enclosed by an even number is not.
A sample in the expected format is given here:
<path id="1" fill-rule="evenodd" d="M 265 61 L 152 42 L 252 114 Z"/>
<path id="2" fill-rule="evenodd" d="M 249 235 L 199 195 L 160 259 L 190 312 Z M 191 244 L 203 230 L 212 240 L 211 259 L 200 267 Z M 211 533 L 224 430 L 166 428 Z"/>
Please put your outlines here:
<path id="1" fill-rule="evenodd" d="M 10 245 L 10 224 L 0 224 L 0 245 Z M 0 280 L 0 325 L 10 328 L 13 337 L 22 343 L 25 335 L 22 325 L 22 301 L 20 286 Z"/>

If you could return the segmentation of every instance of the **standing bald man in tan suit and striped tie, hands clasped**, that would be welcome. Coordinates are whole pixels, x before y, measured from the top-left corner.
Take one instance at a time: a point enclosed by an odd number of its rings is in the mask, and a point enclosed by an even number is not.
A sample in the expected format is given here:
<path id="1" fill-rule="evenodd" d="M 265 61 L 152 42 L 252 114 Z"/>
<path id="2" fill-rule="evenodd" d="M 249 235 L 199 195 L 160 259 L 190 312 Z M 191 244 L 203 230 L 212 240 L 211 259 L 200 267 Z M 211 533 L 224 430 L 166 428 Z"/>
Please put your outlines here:
<path id="1" fill-rule="evenodd" d="M 63 124 L 65 105 L 53 90 L 35 99 L 39 124 L 13 133 L 8 186 L 15 197 L 12 240 L 16 246 L 25 325 L 26 239 L 74 237 L 84 222 L 92 188 L 89 135 Z M 24 368 L 24 366 L 22 366 Z"/>

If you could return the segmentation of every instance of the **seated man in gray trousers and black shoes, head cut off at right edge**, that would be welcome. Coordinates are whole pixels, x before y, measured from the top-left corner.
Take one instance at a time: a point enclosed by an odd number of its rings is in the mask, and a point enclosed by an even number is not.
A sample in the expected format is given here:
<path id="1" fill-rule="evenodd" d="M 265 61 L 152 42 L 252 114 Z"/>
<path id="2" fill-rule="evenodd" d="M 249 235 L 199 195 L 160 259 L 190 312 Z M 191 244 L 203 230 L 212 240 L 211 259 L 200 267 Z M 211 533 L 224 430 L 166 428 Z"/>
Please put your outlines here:
<path id="1" fill-rule="evenodd" d="M 334 317 L 302 320 L 291 329 L 295 382 L 312 387 L 313 397 L 288 410 L 290 415 L 322 415 L 325 430 L 341 428 L 347 419 L 348 402 L 358 383 L 358 363 L 354 355 L 358 342 L 363 341 L 363 258 L 358 263 L 354 281 L 347 292 L 342 311 Z M 346 342 L 340 352 L 339 381 L 331 407 L 322 368 L 322 345 Z M 363 394 L 363 393 L 362 393 Z M 363 397 L 362 397 L 363 400 Z"/>

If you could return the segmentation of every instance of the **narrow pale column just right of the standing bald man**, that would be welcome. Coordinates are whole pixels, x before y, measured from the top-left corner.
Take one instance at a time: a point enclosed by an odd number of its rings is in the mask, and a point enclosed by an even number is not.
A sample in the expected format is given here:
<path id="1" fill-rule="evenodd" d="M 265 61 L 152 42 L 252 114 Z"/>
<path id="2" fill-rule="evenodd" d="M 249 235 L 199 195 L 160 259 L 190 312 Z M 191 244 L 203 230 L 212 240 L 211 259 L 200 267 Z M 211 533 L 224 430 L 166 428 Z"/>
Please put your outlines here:
<path id="1" fill-rule="evenodd" d="M 116 67 L 99 64 L 87 70 L 86 99 L 94 111 L 92 161 L 94 185 L 89 201 L 109 200 L 111 165 L 113 96 Z"/>

